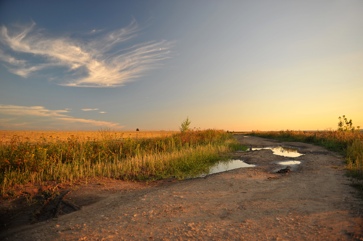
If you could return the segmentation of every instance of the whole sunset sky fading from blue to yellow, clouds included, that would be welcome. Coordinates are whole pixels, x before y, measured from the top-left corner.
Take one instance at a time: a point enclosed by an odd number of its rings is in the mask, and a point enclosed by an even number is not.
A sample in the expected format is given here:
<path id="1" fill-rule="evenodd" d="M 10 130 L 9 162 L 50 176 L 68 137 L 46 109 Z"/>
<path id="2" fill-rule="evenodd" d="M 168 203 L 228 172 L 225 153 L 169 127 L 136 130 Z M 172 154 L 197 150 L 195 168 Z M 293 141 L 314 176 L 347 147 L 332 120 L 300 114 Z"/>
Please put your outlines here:
<path id="1" fill-rule="evenodd" d="M 0 1 L 0 130 L 363 126 L 363 1 Z"/>

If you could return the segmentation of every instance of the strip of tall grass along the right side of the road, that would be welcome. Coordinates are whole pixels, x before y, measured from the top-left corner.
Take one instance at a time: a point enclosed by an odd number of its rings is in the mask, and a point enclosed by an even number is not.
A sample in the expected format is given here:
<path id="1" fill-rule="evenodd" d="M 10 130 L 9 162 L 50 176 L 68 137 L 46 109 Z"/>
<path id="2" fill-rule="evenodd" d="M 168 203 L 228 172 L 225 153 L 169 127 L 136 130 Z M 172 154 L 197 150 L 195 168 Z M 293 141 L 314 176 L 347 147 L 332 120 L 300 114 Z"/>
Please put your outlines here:
<path id="1" fill-rule="evenodd" d="M 346 159 L 347 174 L 363 179 L 363 133 L 359 131 L 306 132 L 281 130 L 279 132 L 253 131 L 253 136 L 273 138 L 283 141 L 299 141 L 324 146 L 337 151 Z"/>

